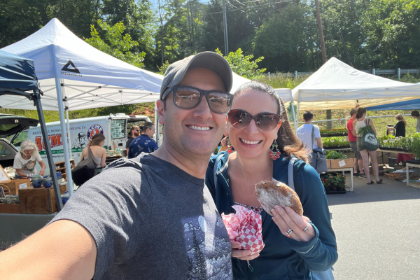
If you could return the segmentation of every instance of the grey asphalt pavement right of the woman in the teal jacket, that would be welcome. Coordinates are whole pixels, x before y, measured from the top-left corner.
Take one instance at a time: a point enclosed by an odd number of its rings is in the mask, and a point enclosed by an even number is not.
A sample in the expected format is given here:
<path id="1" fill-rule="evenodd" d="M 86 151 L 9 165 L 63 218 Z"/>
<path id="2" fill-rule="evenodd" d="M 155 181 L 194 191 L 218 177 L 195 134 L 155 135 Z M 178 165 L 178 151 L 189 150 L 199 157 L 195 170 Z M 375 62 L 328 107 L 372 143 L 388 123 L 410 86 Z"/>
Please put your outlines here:
<path id="1" fill-rule="evenodd" d="M 366 185 L 353 177 L 353 192 L 327 195 L 336 280 L 420 279 L 420 188 L 381 178 L 380 185 Z"/>

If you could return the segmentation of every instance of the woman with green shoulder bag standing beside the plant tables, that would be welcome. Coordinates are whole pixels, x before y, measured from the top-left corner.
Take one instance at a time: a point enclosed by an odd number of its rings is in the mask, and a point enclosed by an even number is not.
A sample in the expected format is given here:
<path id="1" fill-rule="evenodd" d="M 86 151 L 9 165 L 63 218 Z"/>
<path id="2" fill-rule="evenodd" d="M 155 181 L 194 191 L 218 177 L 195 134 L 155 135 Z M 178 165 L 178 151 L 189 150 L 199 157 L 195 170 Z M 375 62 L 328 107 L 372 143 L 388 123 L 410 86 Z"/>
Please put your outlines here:
<path id="1" fill-rule="evenodd" d="M 382 179 L 379 179 L 379 167 L 378 167 L 378 160 L 376 151 L 368 151 L 367 148 L 362 146 L 362 137 L 359 135 L 359 130 L 362 127 L 366 127 L 367 125 L 370 126 L 372 131 L 375 135 L 377 135 L 377 131 L 374 128 L 372 120 L 368 120 L 366 118 L 366 108 L 359 107 L 356 113 L 356 120 L 353 121 L 353 128 L 356 130 L 357 134 L 357 149 L 362 155 L 363 160 L 363 169 L 365 170 L 365 175 L 367 178 L 367 185 L 372 185 L 373 181 L 370 179 L 370 172 L 369 172 L 369 157 L 370 161 L 372 162 L 372 169 L 374 172 L 374 176 L 376 177 L 376 183 L 382 183 Z"/>

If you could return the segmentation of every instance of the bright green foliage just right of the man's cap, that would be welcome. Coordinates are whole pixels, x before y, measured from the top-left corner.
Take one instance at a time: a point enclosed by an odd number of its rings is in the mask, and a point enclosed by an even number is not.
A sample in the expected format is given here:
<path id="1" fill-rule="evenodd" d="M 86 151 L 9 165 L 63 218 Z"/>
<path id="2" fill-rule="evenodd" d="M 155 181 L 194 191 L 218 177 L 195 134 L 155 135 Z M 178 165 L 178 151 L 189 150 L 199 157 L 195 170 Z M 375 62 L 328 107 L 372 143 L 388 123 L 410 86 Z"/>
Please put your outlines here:
<path id="1" fill-rule="evenodd" d="M 216 52 L 219 55 L 223 55 L 219 49 L 216 49 Z M 225 59 L 228 60 L 232 71 L 237 73 L 239 76 L 248 78 L 250 80 L 255 80 L 262 78 L 262 73 L 265 72 L 265 69 L 258 69 L 258 62 L 261 62 L 264 57 L 258 57 L 255 60 L 253 55 L 244 55 L 242 50 L 239 48 L 236 52 L 229 52 L 229 55 Z"/>

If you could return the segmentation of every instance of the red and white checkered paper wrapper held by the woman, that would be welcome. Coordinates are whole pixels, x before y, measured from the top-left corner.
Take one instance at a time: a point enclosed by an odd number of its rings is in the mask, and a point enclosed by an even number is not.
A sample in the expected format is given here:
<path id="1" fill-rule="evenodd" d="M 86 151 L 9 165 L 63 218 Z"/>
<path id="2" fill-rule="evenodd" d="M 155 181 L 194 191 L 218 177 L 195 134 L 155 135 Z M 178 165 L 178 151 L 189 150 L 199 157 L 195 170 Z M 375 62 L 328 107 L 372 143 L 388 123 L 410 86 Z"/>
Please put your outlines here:
<path id="1" fill-rule="evenodd" d="M 265 246 L 262 241 L 261 215 L 240 205 L 232 206 L 232 208 L 235 209 L 236 214 L 222 214 L 230 240 L 239 242 L 241 249 L 250 250 L 251 255 L 260 253 Z"/>

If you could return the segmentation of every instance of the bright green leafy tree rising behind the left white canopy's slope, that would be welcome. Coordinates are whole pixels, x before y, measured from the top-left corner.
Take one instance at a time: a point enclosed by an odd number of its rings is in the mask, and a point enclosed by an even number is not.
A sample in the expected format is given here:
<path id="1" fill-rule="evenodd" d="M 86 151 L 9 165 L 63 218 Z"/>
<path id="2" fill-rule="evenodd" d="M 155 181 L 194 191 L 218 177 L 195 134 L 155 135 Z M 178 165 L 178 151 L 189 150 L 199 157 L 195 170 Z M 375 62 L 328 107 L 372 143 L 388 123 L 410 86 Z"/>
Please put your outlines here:
<path id="1" fill-rule="evenodd" d="M 86 38 L 85 41 L 90 45 L 94 46 L 102 52 L 106 52 L 113 57 L 116 57 L 124 62 L 130 63 L 139 68 L 144 67 L 144 52 L 131 52 L 132 48 L 139 45 L 136 41 L 133 41 L 130 34 L 124 34 L 125 26 L 123 22 L 117 22 L 115 25 L 108 25 L 102 20 L 98 20 L 97 24 L 102 29 L 104 35 L 103 38 L 99 36 L 99 32 L 90 26 L 91 38 Z"/>

